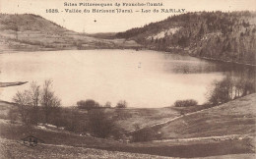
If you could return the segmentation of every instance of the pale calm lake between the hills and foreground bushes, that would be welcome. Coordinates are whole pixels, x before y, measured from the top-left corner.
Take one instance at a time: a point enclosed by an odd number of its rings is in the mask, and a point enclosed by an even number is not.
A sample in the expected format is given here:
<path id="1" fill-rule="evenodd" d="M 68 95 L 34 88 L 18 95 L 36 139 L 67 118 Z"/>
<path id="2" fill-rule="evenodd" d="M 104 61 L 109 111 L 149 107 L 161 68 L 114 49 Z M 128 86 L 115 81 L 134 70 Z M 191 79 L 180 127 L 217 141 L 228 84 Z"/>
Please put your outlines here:
<path id="1" fill-rule="evenodd" d="M 239 68 L 239 69 L 237 69 Z M 226 74 L 243 74 L 243 67 L 210 62 L 189 56 L 149 50 L 69 50 L 0 54 L 0 81 L 29 81 L 0 88 L 0 99 L 11 101 L 30 82 L 53 80 L 63 106 L 79 100 L 106 101 L 115 106 L 165 107 L 176 100 L 207 101 L 206 92 Z"/>

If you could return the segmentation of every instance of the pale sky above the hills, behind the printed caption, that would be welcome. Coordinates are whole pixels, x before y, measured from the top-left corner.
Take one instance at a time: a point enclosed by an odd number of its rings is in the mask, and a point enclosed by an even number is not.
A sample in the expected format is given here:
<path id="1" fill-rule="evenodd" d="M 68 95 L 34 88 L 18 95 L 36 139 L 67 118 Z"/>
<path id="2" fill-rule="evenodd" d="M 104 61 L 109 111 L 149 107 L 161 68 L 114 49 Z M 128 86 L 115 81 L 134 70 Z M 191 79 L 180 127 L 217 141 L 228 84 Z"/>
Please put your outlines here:
<path id="1" fill-rule="evenodd" d="M 86 7 L 64 6 L 64 3 L 162 3 L 157 7 Z M 256 11 L 256 0 L 0 0 L 0 13 L 40 15 L 62 27 L 78 32 L 118 32 L 132 27 L 143 27 L 172 16 L 172 13 L 141 13 L 141 9 L 185 9 L 195 11 Z M 132 9 L 134 13 L 92 13 L 92 9 Z M 59 13 L 46 13 L 46 9 L 58 9 Z M 65 9 L 85 9 L 91 13 L 66 13 Z M 63 12 L 61 12 L 63 11 Z"/>

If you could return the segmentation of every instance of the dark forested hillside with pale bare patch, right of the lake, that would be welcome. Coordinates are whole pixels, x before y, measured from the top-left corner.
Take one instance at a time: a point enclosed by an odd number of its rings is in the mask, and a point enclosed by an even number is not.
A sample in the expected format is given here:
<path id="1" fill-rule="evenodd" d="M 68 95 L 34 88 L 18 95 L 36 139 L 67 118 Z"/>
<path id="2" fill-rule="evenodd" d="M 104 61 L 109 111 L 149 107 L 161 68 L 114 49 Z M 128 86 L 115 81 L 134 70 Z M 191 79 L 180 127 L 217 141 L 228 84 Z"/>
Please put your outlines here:
<path id="1" fill-rule="evenodd" d="M 255 65 L 255 12 L 198 12 L 172 16 L 116 34 L 154 50 Z"/>

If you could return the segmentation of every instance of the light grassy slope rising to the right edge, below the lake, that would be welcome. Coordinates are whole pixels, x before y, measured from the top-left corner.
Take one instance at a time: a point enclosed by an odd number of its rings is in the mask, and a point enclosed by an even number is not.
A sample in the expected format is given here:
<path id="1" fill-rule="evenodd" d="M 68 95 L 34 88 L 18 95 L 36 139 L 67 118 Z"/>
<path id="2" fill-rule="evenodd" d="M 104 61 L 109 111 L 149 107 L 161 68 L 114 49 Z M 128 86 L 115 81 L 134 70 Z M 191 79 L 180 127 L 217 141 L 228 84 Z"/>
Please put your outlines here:
<path id="1" fill-rule="evenodd" d="M 160 129 L 162 138 L 255 134 L 256 94 L 186 115 Z"/>

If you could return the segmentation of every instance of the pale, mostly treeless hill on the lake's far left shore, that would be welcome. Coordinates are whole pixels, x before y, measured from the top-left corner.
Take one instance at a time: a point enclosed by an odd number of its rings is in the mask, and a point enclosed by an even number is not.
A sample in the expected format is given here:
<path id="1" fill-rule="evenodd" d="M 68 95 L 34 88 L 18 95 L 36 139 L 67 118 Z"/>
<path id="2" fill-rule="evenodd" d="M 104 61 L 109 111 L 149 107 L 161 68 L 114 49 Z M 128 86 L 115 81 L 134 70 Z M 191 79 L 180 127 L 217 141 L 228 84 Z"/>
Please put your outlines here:
<path id="1" fill-rule="evenodd" d="M 140 46 L 133 40 L 107 40 L 90 37 L 85 33 L 68 30 L 32 14 L 0 14 L 0 43 L 0 53 Z"/>

